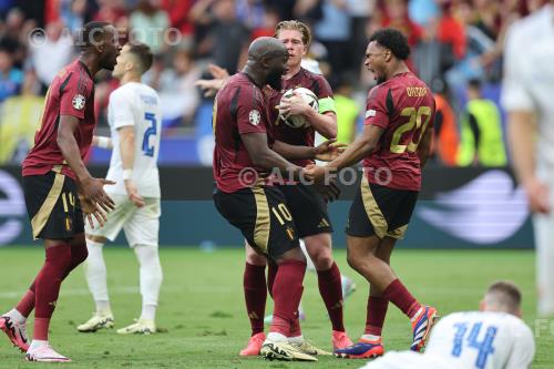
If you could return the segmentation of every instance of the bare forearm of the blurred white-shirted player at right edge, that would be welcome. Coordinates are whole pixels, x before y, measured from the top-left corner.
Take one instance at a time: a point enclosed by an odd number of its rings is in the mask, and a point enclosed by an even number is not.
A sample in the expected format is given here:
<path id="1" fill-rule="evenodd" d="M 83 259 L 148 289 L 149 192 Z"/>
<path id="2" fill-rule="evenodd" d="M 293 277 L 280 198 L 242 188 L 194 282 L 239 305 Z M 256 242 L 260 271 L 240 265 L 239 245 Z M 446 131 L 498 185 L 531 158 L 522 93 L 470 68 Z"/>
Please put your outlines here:
<path id="1" fill-rule="evenodd" d="M 510 113 L 507 127 L 512 162 L 520 182 L 535 175 L 535 125 L 531 113 Z"/>

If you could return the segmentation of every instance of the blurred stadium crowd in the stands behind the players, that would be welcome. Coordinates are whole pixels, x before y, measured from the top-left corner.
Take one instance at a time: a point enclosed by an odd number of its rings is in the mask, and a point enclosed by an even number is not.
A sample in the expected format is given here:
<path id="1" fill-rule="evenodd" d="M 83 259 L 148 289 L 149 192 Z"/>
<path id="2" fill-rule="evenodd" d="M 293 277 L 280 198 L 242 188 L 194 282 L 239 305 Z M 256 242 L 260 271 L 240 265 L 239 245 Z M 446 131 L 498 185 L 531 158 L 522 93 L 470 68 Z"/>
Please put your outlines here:
<path id="1" fill-rule="evenodd" d="M 164 135 L 191 135 L 212 101 L 194 82 L 208 63 L 230 73 L 248 43 L 271 35 L 278 21 L 314 29 L 309 57 L 330 81 L 339 135 L 355 132 L 372 78 L 362 68 L 367 39 L 382 27 L 408 37 L 409 65 L 437 94 L 434 161 L 442 165 L 506 164 L 497 106 L 505 30 L 542 0 L 0 0 L 0 163 L 19 164 L 32 143 L 47 86 L 76 55 L 72 34 L 90 20 L 117 28 L 121 42 L 138 40 L 155 53 L 145 82 L 161 95 Z M 95 110 L 106 127 L 109 94 L 99 76 Z M 205 107 L 202 110 L 202 107 Z M 348 135 L 342 141 L 350 141 Z M 486 144 L 483 144 L 486 143 Z"/>

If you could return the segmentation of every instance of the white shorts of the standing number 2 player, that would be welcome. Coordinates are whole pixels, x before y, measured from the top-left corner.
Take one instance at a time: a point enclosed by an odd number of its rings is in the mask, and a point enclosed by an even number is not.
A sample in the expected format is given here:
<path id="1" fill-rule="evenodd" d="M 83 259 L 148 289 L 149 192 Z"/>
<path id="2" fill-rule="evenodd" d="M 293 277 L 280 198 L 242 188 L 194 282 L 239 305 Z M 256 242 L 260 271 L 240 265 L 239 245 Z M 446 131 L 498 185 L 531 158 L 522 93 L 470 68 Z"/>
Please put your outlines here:
<path id="1" fill-rule="evenodd" d="M 114 240 L 121 229 L 125 233 L 129 246 L 157 246 L 160 233 L 160 198 L 145 197 L 143 207 L 136 207 L 126 195 L 109 194 L 115 208 L 107 213 L 107 222 L 101 227 L 94 221 L 94 228 L 85 224 L 86 235 Z"/>

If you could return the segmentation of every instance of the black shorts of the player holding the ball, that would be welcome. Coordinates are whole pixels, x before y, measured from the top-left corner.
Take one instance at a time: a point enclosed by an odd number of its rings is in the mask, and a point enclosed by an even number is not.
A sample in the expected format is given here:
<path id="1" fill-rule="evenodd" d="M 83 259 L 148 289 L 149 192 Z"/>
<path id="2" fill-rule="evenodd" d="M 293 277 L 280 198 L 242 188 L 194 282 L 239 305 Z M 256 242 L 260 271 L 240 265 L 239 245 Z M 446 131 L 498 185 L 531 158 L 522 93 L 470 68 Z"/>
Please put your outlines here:
<path id="1" fill-rule="evenodd" d="M 285 197 L 298 228 L 298 237 L 331 233 L 331 219 L 327 212 L 327 203 L 314 186 L 301 183 L 277 186 Z"/>

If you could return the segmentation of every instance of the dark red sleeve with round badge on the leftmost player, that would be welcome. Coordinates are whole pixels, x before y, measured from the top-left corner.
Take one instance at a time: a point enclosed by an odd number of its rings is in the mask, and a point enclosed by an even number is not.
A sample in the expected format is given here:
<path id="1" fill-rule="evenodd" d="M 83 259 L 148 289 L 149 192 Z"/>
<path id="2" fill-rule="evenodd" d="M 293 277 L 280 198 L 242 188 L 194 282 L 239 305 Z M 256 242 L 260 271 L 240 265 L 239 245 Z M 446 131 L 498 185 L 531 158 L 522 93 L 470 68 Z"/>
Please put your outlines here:
<path id="1" fill-rule="evenodd" d="M 83 74 L 71 72 L 63 78 L 60 90 L 60 115 L 71 115 L 83 120 L 86 105 L 94 104 L 91 99 L 90 80 Z"/>

